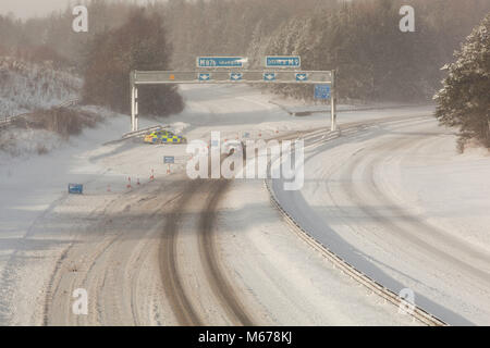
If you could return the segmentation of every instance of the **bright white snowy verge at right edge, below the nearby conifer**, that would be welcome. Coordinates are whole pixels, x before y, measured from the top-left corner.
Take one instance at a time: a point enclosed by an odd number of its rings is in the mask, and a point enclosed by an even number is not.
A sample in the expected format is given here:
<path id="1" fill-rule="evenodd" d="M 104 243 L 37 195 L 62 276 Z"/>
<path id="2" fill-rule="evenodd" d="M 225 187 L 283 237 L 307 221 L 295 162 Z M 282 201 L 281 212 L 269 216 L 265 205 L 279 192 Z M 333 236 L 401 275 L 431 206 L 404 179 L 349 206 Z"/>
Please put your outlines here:
<path id="1" fill-rule="evenodd" d="M 424 220 L 490 254 L 490 151 L 458 153 L 454 142 L 441 136 L 399 160 L 393 190 Z"/>

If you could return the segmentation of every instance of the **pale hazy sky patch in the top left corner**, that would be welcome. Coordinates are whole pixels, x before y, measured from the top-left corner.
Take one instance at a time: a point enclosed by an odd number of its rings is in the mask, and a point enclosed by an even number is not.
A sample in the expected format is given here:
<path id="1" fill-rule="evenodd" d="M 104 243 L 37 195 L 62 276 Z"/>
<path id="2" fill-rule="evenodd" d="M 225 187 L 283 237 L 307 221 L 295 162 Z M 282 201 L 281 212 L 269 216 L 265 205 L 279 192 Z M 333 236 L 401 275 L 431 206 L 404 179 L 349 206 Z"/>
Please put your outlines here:
<path id="1" fill-rule="evenodd" d="M 138 0 L 145 3 L 148 0 Z M 64 10 L 69 3 L 83 3 L 76 0 L 0 0 L 0 14 L 12 12 L 16 17 L 42 16 L 52 11 Z"/>

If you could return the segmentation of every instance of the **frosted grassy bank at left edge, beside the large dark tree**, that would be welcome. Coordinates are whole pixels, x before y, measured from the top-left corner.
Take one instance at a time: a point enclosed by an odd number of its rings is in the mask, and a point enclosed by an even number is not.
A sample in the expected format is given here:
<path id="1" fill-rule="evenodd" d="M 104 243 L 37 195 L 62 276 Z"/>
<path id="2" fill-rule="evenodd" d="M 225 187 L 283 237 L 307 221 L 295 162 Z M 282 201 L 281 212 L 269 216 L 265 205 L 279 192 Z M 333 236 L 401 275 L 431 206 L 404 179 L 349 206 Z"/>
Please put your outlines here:
<path id="1" fill-rule="evenodd" d="M 49 64 L 0 57 L 0 119 L 75 99 L 81 87 L 81 78 Z"/>

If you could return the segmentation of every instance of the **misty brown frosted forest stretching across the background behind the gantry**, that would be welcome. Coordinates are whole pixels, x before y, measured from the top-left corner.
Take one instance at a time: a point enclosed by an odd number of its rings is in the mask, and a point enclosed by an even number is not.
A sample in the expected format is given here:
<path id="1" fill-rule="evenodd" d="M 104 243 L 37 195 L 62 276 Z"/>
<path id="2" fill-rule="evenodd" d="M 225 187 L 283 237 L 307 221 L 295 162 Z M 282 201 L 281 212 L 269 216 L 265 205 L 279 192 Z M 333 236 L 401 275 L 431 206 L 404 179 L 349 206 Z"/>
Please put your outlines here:
<path id="1" fill-rule="evenodd" d="M 0 17 L 0 54 L 90 71 L 94 40 L 102 48 L 108 33 L 122 35 L 113 30 L 127 25 L 136 5 L 87 2 L 87 34 L 71 30 L 71 9 L 25 23 Z M 415 9 L 415 33 L 399 29 L 403 4 Z M 164 33 L 169 57 L 161 66 L 168 69 L 194 69 L 197 55 L 245 55 L 260 67 L 264 55 L 299 54 L 304 70 L 338 71 L 341 99 L 424 101 L 440 88 L 440 67 L 489 11 L 489 0 L 169 0 L 145 12 L 161 20 L 163 29 L 150 36 Z M 127 45 L 121 45 L 113 54 L 124 54 Z M 298 86 L 277 91 L 311 97 L 310 88 Z"/>

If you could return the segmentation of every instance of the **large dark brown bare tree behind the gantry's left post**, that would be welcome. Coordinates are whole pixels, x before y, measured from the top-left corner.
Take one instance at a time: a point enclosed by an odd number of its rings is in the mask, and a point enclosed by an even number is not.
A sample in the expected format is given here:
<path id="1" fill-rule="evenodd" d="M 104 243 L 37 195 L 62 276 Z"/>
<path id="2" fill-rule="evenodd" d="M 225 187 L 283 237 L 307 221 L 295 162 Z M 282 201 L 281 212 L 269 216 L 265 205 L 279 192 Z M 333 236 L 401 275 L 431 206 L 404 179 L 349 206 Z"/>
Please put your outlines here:
<path id="1" fill-rule="evenodd" d="M 130 112 L 130 72 L 169 70 L 170 55 L 161 16 L 144 9 L 135 10 L 121 27 L 95 36 L 84 75 L 84 101 Z M 138 89 L 143 114 L 166 116 L 183 110 L 175 86 L 151 85 Z"/>

